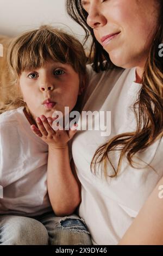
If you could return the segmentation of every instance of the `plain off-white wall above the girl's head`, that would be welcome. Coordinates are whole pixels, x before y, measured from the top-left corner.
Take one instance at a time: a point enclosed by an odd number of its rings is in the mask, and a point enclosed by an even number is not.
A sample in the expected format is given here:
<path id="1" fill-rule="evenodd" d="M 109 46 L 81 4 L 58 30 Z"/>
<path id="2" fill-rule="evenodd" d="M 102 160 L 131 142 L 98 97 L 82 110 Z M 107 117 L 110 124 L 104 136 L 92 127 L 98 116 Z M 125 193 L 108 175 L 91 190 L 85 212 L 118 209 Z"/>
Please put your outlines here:
<path id="1" fill-rule="evenodd" d="M 84 30 L 66 13 L 66 0 L 0 0 L 0 34 L 15 36 L 41 25 L 64 28 L 83 41 Z"/>

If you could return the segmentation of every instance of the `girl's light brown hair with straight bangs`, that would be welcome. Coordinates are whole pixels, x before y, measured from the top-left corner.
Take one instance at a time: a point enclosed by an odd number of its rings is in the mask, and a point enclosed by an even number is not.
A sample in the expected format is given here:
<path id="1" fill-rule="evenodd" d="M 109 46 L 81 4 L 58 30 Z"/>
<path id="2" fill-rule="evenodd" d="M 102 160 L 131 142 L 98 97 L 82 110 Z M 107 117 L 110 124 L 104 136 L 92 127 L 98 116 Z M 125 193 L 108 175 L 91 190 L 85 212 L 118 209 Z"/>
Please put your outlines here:
<path id="1" fill-rule="evenodd" d="M 40 68 L 47 59 L 70 64 L 79 74 L 80 88 L 84 88 L 86 56 L 82 44 L 61 29 L 41 26 L 17 36 L 9 45 L 7 72 L 10 81 L 7 87 L 3 87 L 3 84 L 1 86 L 0 113 L 21 106 L 26 107 L 29 112 L 18 86 L 18 78 L 24 70 Z"/>

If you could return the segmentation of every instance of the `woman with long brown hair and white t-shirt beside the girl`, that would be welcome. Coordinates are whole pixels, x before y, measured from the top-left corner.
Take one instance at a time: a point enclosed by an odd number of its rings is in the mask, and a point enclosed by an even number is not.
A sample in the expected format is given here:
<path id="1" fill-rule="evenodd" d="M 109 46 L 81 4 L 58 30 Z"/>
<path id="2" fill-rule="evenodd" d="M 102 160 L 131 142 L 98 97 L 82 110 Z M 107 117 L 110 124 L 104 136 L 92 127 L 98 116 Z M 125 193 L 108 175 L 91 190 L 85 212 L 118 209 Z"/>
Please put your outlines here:
<path id="1" fill-rule="evenodd" d="M 79 215 L 95 245 L 163 244 L 163 2 L 66 5 L 93 39 L 83 111 L 111 111 L 110 136 L 81 131 L 73 139 Z"/>

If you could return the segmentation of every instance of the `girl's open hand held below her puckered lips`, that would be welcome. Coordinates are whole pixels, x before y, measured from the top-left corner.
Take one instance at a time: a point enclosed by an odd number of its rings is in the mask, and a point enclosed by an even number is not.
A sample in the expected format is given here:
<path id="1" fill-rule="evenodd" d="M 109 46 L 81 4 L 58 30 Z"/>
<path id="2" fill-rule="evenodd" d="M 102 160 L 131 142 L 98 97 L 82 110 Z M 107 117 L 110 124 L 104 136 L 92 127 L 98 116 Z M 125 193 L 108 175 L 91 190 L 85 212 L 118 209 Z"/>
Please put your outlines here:
<path id="1" fill-rule="evenodd" d="M 76 129 L 78 125 L 74 125 L 71 130 L 68 131 L 60 130 L 61 127 L 59 127 L 59 130 L 54 131 L 52 124 L 55 119 L 57 118 L 46 118 L 45 115 L 41 115 L 35 119 L 38 128 L 35 125 L 31 125 L 30 128 L 35 135 L 46 142 L 48 146 L 55 149 L 63 149 L 67 147 L 68 141 L 70 141 L 77 132 Z"/>

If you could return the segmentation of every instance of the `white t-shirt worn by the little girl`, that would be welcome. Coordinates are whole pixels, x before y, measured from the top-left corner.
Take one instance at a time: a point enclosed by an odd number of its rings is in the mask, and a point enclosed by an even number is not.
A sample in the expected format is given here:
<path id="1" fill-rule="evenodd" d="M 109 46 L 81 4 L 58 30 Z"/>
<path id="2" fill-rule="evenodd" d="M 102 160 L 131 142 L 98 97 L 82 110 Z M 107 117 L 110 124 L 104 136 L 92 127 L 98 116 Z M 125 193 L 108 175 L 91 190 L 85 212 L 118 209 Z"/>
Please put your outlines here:
<path id="1" fill-rule="evenodd" d="M 23 107 L 0 115 L 0 214 L 51 211 L 47 192 L 48 145 L 30 130 Z"/>

